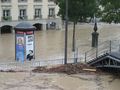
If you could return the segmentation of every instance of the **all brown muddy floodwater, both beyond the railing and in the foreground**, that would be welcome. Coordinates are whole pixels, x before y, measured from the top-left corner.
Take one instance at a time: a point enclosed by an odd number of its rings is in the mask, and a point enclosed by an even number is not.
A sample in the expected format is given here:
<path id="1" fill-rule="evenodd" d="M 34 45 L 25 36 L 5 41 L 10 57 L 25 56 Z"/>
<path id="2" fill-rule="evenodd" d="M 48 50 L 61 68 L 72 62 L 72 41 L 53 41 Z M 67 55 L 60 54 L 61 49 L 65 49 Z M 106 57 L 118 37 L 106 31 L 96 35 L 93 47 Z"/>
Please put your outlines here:
<path id="1" fill-rule="evenodd" d="M 91 49 L 93 24 L 76 26 L 79 53 Z M 99 43 L 120 37 L 120 25 L 98 24 Z M 68 31 L 68 53 L 72 53 L 72 25 Z M 35 32 L 36 60 L 57 59 L 64 55 L 64 30 Z M 84 54 L 83 54 L 84 55 Z M 69 56 L 69 55 L 68 55 Z M 15 35 L 0 35 L 0 62 L 15 61 Z M 120 90 L 120 79 L 112 75 L 37 74 L 0 72 L 0 90 Z"/>

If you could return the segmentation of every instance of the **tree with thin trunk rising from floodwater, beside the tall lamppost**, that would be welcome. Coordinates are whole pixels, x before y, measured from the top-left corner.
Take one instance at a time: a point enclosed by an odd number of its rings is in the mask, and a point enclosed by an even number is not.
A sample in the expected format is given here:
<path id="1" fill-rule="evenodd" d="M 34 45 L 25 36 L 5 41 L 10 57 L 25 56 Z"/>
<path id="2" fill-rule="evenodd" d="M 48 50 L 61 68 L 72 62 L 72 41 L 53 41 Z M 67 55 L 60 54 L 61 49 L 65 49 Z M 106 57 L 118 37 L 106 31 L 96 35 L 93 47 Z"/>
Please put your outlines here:
<path id="1" fill-rule="evenodd" d="M 65 0 L 55 0 L 59 6 L 58 15 L 65 19 Z M 68 18 L 73 22 L 73 51 L 75 51 L 75 27 L 78 21 L 86 22 L 87 18 L 92 18 L 97 12 L 96 0 L 68 0 Z"/>

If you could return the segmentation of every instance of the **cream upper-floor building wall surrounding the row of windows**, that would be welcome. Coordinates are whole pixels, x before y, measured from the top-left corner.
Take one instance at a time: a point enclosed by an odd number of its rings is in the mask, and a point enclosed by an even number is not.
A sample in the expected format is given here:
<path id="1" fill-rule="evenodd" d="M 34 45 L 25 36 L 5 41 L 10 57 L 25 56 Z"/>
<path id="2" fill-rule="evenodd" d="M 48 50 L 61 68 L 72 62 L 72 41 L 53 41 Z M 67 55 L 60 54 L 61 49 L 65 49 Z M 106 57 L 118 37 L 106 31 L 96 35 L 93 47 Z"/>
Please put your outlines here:
<path id="1" fill-rule="evenodd" d="M 2 17 L 2 8 L 0 2 L 0 17 Z M 40 5 L 42 10 L 42 18 L 48 19 L 48 9 L 50 6 L 55 7 L 55 14 L 57 15 L 59 7 L 56 6 L 54 3 L 48 3 L 48 0 L 43 0 L 42 3 L 34 3 L 34 0 L 28 0 L 27 3 L 18 3 L 18 0 L 11 0 L 11 16 L 12 20 L 18 20 L 19 16 L 19 7 L 18 5 L 26 5 L 27 6 L 27 16 L 29 20 L 34 19 L 34 5 Z M 49 4 L 49 5 L 48 5 Z M 1 18 L 0 18 L 1 21 Z"/>

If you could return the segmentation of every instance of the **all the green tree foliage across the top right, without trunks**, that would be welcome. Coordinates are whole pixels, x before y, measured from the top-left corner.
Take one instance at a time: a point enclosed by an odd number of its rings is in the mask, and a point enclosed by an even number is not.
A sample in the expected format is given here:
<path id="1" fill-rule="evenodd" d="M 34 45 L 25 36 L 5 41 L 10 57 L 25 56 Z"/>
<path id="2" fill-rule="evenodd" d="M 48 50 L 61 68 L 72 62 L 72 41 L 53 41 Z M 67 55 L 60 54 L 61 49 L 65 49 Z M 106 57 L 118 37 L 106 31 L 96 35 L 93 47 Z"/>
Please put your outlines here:
<path id="1" fill-rule="evenodd" d="M 65 0 L 55 0 L 60 7 L 58 15 L 65 19 Z M 95 14 L 104 22 L 120 23 L 120 0 L 68 0 L 70 21 L 85 22 Z"/>

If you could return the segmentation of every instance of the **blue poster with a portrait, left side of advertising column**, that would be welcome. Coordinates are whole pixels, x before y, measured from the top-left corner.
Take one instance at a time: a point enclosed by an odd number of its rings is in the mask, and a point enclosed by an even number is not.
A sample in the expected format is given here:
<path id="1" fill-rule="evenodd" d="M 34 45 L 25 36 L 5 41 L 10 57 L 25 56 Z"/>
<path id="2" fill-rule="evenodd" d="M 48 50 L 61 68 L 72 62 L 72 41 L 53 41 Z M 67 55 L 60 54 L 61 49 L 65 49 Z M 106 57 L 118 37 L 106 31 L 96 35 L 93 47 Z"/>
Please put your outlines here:
<path id="1" fill-rule="evenodd" d="M 24 62 L 24 35 L 16 35 L 16 60 Z"/>

